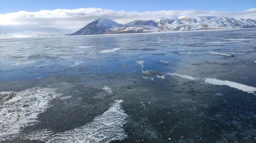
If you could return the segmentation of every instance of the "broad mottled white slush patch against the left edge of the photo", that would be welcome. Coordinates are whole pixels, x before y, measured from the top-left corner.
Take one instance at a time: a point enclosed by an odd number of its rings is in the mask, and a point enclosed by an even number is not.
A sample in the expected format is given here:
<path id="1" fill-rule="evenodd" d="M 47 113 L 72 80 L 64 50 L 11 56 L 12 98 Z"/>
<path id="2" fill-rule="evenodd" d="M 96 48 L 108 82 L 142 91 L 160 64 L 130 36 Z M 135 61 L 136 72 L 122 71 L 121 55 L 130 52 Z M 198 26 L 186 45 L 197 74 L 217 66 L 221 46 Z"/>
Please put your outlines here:
<path id="1" fill-rule="evenodd" d="M 22 127 L 36 124 L 38 114 L 47 110 L 49 102 L 60 96 L 53 88 L 31 88 L 19 92 L 1 92 L 0 138 L 15 134 Z M 3 96 L 4 95 L 4 96 Z"/>

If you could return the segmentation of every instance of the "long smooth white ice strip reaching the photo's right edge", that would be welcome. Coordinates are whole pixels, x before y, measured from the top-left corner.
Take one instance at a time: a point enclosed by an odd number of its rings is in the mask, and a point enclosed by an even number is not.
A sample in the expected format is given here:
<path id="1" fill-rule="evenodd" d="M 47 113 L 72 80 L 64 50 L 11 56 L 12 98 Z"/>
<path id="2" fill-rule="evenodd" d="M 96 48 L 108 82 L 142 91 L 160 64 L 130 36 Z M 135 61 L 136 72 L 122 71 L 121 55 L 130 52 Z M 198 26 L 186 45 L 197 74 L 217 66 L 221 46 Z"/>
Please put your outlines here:
<path id="1" fill-rule="evenodd" d="M 236 82 L 231 82 L 231 81 L 227 81 L 227 80 L 223 81 L 223 80 L 211 79 L 211 78 L 205 78 L 204 82 L 207 83 L 207 84 L 213 84 L 213 85 L 219 85 L 219 86 L 226 85 L 226 86 L 229 86 L 231 88 L 239 89 L 239 90 L 242 90 L 244 92 L 253 93 L 254 95 L 256 95 L 256 88 L 255 87 L 246 86 L 246 85 L 239 84 L 239 83 L 236 83 Z"/>

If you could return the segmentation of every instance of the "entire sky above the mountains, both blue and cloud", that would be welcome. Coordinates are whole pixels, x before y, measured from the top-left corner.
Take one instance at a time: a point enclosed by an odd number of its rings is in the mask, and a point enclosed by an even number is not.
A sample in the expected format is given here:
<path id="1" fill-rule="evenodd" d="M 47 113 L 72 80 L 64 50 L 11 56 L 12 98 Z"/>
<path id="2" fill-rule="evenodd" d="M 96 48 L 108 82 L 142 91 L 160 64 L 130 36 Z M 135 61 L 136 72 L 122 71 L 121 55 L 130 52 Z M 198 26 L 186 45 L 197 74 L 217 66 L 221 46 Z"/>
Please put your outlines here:
<path id="1" fill-rule="evenodd" d="M 255 0 L 0 0 L 0 25 L 78 29 L 97 18 L 227 16 L 256 19 Z"/>

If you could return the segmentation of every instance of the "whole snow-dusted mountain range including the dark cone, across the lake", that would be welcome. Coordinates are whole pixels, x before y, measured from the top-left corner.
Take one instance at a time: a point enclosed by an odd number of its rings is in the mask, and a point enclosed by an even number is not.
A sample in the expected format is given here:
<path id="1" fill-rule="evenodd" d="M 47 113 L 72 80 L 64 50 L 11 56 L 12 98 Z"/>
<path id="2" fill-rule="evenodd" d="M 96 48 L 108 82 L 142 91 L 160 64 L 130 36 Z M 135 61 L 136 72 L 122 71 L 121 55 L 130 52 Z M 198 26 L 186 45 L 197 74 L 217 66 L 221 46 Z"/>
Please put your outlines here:
<path id="1" fill-rule="evenodd" d="M 182 16 L 179 18 L 134 20 L 122 25 L 107 18 L 100 18 L 70 35 L 121 34 L 235 28 L 256 28 L 256 20 L 229 17 Z"/>

